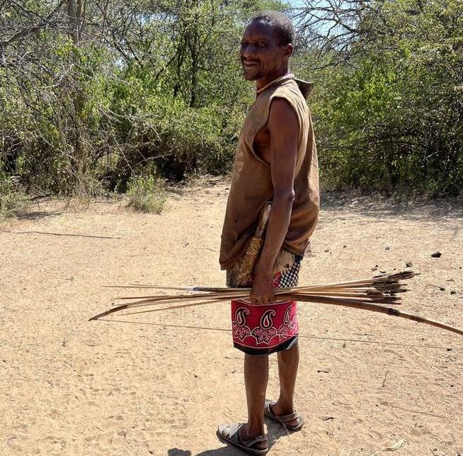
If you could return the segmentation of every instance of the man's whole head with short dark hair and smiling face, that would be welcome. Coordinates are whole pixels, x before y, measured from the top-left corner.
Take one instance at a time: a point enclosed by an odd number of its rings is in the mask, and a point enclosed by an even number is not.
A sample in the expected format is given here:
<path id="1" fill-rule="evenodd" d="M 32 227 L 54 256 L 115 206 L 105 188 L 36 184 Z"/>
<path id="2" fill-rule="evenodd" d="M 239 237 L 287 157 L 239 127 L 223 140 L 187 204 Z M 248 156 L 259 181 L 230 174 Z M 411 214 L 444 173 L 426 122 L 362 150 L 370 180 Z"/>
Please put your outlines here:
<path id="1" fill-rule="evenodd" d="M 279 11 L 261 11 L 248 23 L 239 58 L 248 81 L 273 77 L 287 69 L 295 42 L 295 29 Z"/>

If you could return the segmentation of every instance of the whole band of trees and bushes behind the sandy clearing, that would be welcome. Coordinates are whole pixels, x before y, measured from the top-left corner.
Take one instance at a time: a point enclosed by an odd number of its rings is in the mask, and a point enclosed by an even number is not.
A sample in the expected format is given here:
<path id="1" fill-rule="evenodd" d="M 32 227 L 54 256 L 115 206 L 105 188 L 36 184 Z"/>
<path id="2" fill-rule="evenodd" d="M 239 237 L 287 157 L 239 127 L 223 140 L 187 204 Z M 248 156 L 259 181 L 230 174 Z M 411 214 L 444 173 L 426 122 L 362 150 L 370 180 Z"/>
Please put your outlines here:
<path id="1" fill-rule="evenodd" d="M 260 9 L 297 26 L 326 189 L 461 192 L 462 1 L 4 0 L 1 210 L 228 172 L 253 100 L 239 39 Z"/>

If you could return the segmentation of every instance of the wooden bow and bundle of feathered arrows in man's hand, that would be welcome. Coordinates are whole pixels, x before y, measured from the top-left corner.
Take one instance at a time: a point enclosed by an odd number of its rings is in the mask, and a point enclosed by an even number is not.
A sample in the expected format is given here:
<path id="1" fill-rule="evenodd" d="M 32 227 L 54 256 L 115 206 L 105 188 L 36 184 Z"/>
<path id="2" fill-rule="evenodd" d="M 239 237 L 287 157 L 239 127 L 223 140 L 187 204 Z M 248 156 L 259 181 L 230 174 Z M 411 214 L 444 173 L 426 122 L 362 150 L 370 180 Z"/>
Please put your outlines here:
<path id="1" fill-rule="evenodd" d="M 413 313 L 399 311 L 396 308 L 396 305 L 400 304 L 400 294 L 408 291 L 406 283 L 403 281 L 411 279 L 414 275 L 413 272 L 398 272 L 396 274 L 384 274 L 372 279 L 277 288 L 275 289 L 275 300 L 331 304 L 334 306 L 385 313 L 390 316 L 407 318 L 418 323 L 427 323 L 463 335 L 462 329 Z M 119 297 L 117 299 L 123 301 L 124 304 L 115 304 L 107 311 L 98 313 L 96 316 L 90 318 L 90 321 L 98 320 L 98 318 L 103 318 L 118 311 L 126 311 L 124 315 L 135 315 L 138 313 L 165 311 L 173 308 L 249 299 L 251 294 L 251 288 L 164 287 L 161 285 L 139 284 L 115 286 L 115 288 L 170 290 L 180 291 L 181 293 Z M 132 311 L 132 308 L 135 311 Z M 140 308 L 144 308 L 144 310 Z"/>

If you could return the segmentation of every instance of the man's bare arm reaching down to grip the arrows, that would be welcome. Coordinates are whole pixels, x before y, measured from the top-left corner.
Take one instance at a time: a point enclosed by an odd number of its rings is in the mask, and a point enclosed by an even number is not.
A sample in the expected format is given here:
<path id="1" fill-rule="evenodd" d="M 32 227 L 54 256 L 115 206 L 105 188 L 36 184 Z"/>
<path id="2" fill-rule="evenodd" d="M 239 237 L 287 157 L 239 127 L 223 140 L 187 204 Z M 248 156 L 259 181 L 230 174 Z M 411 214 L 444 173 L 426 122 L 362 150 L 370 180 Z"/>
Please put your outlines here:
<path id="1" fill-rule="evenodd" d="M 268 117 L 270 130 L 270 169 L 273 182 L 273 204 L 268 216 L 267 233 L 261 256 L 254 268 L 251 302 L 268 304 L 273 293 L 273 265 L 290 225 L 295 199 L 294 177 L 297 159 L 299 123 L 285 99 L 275 99 Z"/>

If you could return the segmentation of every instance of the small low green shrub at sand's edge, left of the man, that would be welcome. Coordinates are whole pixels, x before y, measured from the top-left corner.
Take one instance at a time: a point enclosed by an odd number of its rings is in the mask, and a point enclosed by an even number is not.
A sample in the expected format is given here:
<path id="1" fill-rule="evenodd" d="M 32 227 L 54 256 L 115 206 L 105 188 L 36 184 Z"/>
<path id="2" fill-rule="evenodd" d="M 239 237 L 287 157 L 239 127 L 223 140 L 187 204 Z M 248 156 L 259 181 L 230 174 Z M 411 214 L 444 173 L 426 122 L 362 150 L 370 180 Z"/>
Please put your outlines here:
<path id="1" fill-rule="evenodd" d="M 154 175 L 131 179 L 127 186 L 127 206 L 140 212 L 161 213 L 166 203 L 164 181 Z"/>

